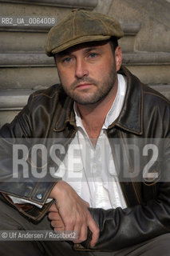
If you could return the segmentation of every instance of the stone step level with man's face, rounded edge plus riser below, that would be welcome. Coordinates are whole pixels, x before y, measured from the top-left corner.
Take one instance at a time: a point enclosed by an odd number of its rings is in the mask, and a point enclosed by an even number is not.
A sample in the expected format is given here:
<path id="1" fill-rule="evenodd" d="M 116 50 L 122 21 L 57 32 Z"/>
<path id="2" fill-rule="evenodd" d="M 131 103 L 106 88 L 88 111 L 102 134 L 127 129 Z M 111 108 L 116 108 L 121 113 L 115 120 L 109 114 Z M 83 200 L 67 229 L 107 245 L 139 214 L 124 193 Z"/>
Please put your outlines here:
<path id="1" fill-rule="evenodd" d="M 170 53 L 125 53 L 123 64 L 147 84 L 168 84 Z M 0 54 L 0 88 L 38 90 L 59 82 L 53 58 L 45 54 Z"/>

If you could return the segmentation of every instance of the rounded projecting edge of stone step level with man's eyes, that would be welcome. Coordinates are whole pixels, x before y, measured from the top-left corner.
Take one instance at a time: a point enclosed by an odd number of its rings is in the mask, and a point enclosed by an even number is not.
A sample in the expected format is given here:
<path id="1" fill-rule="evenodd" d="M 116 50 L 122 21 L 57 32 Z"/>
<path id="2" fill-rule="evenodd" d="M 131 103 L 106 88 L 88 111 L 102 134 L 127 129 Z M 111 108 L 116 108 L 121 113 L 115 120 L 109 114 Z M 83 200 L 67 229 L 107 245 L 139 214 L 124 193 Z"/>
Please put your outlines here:
<path id="1" fill-rule="evenodd" d="M 123 54 L 123 62 L 130 66 L 170 65 L 170 52 L 138 52 Z M 0 67 L 55 66 L 53 57 L 43 53 L 0 54 Z"/>

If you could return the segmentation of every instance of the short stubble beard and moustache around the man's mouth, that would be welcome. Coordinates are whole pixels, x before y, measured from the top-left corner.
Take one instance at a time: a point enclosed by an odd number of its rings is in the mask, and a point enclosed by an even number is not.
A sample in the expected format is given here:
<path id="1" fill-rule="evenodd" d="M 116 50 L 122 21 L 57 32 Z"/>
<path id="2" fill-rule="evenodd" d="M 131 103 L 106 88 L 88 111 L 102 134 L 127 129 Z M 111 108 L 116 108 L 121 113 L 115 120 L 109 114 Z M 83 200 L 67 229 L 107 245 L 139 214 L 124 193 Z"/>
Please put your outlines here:
<path id="1" fill-rule="evenodd" d="M 59 76 L 60 78 L 60 76 Z M 89 104 L 95 104 L 97 102 L 100 102 L 103 98 L 105 98 L 110 90 L 113 89 L 113 86 L 115 85 L 115 82 L 117 80 L 117 72 L 115 63 L 113 64 L 112 68 L 109 71 L 108 76 L 104 79 L 102 82 L 102 86 L 98 87 L 97 85 L 100 83 L 97 80 L 91 79 L 89 77 L 83 77 L 80 79 L 77 79 L 77 81 L 73 82 L 70 86 L 70 89 L 68 89 L 62 82 L 63 89 L 65 90 L 65 93 L 70 97 L 73 98 L 73 101 L 77 102 L 81 105 L 89 105 Z M 61 81 L 61 78 L 60 78 Z M 97 86 L 97 90 L 95 90 L 92 94 L 86 94 L 86 92 L 77 92 L 73 90 L 79 83 L 81 82 L 89 82 L 90 84 L 93 84 L 93 86 Z"/>

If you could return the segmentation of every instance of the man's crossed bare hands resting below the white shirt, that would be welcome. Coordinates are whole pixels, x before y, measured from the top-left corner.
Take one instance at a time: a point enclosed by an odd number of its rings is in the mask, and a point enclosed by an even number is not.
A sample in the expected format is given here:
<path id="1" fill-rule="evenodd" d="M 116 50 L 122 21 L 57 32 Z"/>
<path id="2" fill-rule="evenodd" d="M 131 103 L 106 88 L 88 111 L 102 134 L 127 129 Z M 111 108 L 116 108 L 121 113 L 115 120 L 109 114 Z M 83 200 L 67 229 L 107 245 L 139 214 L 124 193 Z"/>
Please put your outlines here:
<path id="1" fill-rule="evenodd" d="M 88 203 L 63 181 L 57 182 L 49 198 L 56 200 L 56 204 L 51 206 L 49 212 L 49 219 L 52 220 L 51 225 L 54 229 L 62 230 L 63 227 L 63 230 L 76 231 L 78 240 L 74 242 L 83 242 L 87 239 L 89 227 L 92 232 L 90 246 L 94 246 L 99 237 L 99 228 L 89 213 Z"/>

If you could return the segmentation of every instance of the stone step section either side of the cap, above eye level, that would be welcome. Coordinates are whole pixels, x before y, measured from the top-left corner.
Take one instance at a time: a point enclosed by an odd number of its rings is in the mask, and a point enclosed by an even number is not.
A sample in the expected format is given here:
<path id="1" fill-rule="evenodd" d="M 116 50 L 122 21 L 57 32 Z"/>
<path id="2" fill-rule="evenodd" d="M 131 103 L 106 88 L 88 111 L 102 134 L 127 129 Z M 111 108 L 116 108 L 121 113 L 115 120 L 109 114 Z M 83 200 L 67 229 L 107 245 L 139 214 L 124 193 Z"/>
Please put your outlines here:
<path id="1" fill-rule="evenodd" d="M 45 51 L 45 39 L 51 26 L 1 26 L 0 53 L 42 52 Z M 140 30 L 140 23 L 122 24 L 125 37 L 120 46 L 124 52 L 134 50 L 135 36 Z"/>

